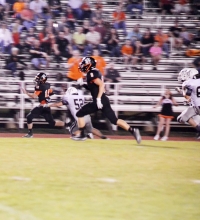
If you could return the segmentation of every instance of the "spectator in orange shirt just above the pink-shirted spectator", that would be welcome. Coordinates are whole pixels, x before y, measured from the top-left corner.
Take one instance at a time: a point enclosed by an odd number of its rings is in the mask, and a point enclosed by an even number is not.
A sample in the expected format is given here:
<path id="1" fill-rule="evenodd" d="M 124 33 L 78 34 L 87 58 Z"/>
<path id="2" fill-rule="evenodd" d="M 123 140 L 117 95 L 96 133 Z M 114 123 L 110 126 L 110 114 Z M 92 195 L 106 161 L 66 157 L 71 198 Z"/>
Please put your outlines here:
<path id="1" fill-rule="evenodd" d="M 157 34 L 154 36 L 154 40 L 158 42 L 158 45 L 166 53 L 166 57 L 169 58 L 169 41 L 168 35 L 162 32 L 162 28 L 158 28 Z"/>

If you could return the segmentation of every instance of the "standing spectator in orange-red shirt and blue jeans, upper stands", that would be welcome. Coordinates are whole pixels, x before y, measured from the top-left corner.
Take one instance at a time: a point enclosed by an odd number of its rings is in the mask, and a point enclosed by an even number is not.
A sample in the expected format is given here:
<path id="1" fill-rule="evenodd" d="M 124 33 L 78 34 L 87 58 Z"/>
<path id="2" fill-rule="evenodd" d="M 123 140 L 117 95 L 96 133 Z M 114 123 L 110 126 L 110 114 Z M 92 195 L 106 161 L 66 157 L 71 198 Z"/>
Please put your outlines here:
<path id="1" fill-rule="evenodd" d="M 116 11 L 113 13 L 113 19 L 114 19 L 114 28 L 115 29 L 123 29 L 124 35 L 126 35 L 126 16 L 125 13 L 121 10 L 121 8 L 118 6 Z"/>

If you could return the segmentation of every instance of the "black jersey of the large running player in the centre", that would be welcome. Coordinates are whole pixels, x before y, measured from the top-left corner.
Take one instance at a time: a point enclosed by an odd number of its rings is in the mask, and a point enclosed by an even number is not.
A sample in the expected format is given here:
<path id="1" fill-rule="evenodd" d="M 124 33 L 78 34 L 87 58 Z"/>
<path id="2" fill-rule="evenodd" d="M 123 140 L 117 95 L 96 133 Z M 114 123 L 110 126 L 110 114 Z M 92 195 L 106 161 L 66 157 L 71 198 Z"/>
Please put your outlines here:
<path id="1" fill-rule="evenodd" d="M 102 75 L 98 69 L 92 69 L 87 73 L 87 85 L 93 99 L 96 99 L 99 93 L 99 86 L 94 83 L 94 80 L 97 78 L 103 80 Z"/>

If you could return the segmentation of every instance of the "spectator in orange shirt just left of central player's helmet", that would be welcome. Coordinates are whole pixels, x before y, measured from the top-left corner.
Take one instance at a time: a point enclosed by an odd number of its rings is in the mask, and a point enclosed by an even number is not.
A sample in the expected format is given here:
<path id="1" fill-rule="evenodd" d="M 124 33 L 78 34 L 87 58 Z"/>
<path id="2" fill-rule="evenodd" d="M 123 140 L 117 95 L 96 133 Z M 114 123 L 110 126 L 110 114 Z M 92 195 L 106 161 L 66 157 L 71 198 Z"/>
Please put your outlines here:
<path id="1" fill-rule="evenodd" d="M 69 71 L 67 78 L 69 81 L 75 81 L 79 78 L 83 78 L 83 74 L 79 71 L 79 63 L 81 62 L 80 53 L 78 50 L 73 51 L 73 56 L 67 61 L 67 67 Z"/>

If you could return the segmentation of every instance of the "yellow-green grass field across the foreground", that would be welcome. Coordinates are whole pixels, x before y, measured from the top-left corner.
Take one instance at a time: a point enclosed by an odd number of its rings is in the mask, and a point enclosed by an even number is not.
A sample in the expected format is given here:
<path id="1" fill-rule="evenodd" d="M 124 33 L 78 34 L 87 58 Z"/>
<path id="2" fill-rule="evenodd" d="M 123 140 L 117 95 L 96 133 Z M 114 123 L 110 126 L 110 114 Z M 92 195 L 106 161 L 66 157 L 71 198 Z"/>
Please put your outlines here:
<path id="1" fill-rule="evenodd" d="M 200 143 L 0 139 L 0 220 L 199 220 Z"/>

